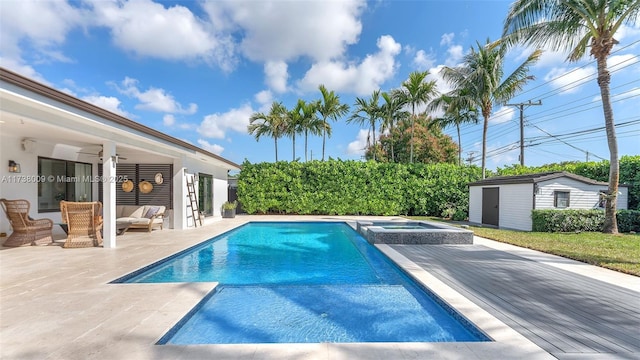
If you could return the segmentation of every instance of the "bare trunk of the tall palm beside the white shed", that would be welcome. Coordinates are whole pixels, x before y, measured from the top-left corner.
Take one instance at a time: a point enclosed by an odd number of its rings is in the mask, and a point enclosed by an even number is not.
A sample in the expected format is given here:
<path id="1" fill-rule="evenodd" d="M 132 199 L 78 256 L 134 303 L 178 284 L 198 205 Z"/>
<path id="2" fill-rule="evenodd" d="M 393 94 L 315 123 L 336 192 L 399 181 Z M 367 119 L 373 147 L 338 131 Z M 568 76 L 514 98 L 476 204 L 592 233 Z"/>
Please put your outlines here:
<path id="1" fill-rule="evenodd" d="M 604 123 L 607 131 L 607 143 L 609 145 L 609 190 L 604 210 L 603 233 L 617 234 L 618 222 L 616 219 L 616 208 L 618 204 L 618 181 L 620 180 L 620 163 L 618 162 L 618 141 L 616 140 L 616 129 L 613 122 L 613 109 L 611 108 L 611 96 L 609 93 L 609 83 L 611 74 L 607 70 L 606 55 L 596 56 L 598 64 L 598 85 L 602 96 L 602 110 L 604 111 Z"/>

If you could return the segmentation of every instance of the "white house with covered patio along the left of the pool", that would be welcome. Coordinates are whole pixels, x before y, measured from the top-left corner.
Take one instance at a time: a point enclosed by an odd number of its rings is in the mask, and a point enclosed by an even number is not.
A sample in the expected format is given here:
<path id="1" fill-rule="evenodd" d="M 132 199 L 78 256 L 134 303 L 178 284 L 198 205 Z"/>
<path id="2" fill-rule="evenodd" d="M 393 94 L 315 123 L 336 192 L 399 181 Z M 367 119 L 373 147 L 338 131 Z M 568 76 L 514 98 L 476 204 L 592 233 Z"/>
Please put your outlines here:
<path id="1" fill-rule="evenodd" d="M 187 181 L 194 182 L 199 211 L 210 221 L 227 201 L 228 172 L 240 170 L 223 157 L 4 68 L 0 164 L 0 198 L 28 200 L 34 218 L 60 222 L 60 200 L 101 201 L 105 248 L 116 246 L 116 205 L 164 205 L 165 225 L 186 229 L 194 225 Z M 125 179 L 135 186 L 124 186 Z M 10 232 L 2 213 L 0 233 Z"/>

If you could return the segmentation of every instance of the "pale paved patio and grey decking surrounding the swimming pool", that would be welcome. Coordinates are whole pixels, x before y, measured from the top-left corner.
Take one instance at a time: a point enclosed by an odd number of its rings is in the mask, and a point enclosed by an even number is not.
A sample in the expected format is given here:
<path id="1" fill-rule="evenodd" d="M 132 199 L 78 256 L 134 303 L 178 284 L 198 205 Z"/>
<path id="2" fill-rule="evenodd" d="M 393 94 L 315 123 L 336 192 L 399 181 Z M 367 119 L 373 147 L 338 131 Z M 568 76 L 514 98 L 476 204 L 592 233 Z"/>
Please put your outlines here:
<path id="1" fill-rule="evenodd" d="M 343 359 L 381 354 L 553 359 L 578 354 L 633 358 L 640 352 L 633 330 L 640 314 L 631 306 L 640 292 L 637 277 L 479 237 L 473 245 L 378 244 L 376 248 L 475 324 L 490 338 L 483 342 L 158 345 L 221 284 L 114 283 L 249 222 L 283 221 L 346 222 L 354 234 L 357 221 L 407 223 L 399 217 L 239 215 L 188 230 L 127 232 L 118 248 L 110 251 L 2 248 L 0 352 L 6 358 L 64 359 Z M 618 306 L 612 308 L 614 303 Z M 19 339 L 4 336 L 8 331 L 20 334 Z M 56 337 L 61 331 L 65 341 Z"/>

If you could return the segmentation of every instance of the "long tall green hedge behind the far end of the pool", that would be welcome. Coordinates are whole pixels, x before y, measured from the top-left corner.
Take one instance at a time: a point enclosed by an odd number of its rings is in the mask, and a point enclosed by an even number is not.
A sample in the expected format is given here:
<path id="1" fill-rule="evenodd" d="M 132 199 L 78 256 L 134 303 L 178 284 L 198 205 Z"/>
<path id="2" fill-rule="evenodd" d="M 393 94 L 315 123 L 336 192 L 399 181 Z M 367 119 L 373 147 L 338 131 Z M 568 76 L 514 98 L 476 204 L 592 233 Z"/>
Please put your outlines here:
<path id="1" fill-rule="evenodd" d="M 373 161 L 251 164 L 238 176 L 238 199 L 249 214 L 466 215 L 467 183 L 476 166 Z"/>

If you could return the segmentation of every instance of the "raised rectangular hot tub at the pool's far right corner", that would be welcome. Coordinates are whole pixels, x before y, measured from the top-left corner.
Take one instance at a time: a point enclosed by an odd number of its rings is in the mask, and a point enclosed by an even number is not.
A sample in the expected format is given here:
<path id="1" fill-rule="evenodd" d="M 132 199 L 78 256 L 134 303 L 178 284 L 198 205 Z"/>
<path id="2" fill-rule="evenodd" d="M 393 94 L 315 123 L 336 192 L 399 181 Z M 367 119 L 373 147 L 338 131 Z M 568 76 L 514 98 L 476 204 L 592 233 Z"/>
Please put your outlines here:
<path id="1" fill-rule="evenodd" d="M 473 231 L 428 221 L 358 221 L 372 244 L 473 244 Z"/>

